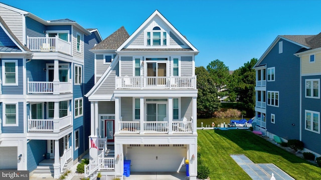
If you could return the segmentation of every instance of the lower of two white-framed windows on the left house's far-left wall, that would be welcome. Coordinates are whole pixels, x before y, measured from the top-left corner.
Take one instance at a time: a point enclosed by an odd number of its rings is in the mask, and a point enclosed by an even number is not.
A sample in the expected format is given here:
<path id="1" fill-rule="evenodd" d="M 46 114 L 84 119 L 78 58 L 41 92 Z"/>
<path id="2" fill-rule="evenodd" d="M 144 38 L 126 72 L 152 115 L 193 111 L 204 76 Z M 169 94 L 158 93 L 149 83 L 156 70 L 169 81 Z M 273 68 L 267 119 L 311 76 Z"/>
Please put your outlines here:
<path id="1" fill-rule="evenodd" d="M 4 124 L 3 126 L 18 126 L 18 103 L 4 104 Z"/>

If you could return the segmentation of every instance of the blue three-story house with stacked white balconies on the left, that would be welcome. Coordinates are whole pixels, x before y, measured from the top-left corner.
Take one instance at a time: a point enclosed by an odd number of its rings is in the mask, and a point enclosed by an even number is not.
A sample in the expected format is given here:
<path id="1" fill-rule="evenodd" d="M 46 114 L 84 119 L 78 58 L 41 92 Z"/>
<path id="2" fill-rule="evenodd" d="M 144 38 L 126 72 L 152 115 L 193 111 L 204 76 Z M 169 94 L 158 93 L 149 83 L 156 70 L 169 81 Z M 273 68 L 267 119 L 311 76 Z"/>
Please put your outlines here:
<path id="1" fill-rule="evenodd" d="M 88 149 L 97 30 L 0 3 L 0 169 L 55 178 Z"/>

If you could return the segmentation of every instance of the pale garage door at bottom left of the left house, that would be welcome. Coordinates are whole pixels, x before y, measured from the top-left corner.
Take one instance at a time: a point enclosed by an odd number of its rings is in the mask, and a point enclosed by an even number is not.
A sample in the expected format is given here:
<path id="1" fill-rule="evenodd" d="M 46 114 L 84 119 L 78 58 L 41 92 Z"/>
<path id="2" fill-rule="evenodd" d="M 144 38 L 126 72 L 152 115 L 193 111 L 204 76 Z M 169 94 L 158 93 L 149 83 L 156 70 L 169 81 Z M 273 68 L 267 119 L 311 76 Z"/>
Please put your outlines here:
<path id="1" fill-rule="evenodd" d="M 17 147 L 0 147 L 0 169 L 17 169 Z"/>

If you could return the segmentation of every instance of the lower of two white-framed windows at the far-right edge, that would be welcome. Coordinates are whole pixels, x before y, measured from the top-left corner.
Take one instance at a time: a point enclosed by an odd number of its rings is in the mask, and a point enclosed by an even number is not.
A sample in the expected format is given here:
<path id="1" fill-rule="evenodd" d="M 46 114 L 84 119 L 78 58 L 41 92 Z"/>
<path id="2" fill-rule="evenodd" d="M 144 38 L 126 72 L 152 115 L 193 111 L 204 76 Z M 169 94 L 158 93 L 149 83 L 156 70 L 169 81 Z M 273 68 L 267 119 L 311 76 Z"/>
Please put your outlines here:
<path id="1" fill-rule="evenodd" d="M 305 110 L 305 129 L 320 133 L 320 112 Z"/>

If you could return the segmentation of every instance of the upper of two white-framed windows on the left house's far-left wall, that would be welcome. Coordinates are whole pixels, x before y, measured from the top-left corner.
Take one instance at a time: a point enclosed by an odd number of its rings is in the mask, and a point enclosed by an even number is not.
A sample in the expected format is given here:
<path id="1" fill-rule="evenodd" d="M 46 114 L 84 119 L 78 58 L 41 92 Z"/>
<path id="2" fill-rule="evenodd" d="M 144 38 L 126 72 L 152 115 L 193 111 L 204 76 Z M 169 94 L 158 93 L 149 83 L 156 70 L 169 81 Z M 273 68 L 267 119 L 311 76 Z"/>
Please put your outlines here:
<path id="1" fill-rule="evenodd" d="M 18 86 L 18 60 L 2 61 L 4 86 Z"/>

